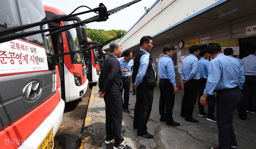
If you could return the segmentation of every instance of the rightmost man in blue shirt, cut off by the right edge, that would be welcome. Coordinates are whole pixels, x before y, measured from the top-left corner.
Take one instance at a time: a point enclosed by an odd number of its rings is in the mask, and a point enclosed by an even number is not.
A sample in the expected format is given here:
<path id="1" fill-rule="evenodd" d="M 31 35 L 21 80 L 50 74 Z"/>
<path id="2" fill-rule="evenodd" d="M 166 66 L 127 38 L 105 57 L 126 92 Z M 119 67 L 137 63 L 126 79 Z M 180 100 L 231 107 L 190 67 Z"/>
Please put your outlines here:
<path id="1" fill-rule="evenodd" d="M 245 105 L 246 111 L 256 114 L 256 46 L 247 49 L 248 57 L 242 59 L 245 65 Z"/>

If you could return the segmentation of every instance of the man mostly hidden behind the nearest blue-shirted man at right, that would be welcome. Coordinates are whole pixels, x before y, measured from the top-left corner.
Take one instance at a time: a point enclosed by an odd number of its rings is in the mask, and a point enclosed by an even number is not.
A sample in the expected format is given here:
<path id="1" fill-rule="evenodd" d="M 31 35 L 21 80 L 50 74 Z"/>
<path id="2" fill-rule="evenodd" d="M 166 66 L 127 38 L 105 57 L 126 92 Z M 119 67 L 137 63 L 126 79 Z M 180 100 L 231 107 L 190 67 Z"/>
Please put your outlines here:
<path id="1" fill-rule="evenodd" d="M 244 73 L 245 73 L 244 62 L 239 58 L 233 57 L 234 56 L 233 48 L 226 48 L 223 50 L 223 53 L 224 53 L 224 55 L 227 55 L 228 57 L 235 58 L 235 60 L 238 60 L 239 63 L 241 64 L 241 67 L 242 67 Z M 243 88 L 240 88 L 240 89 L 242 92 L 242 97 L 241 97 L 242 104 L 238 105 L 237 110 L 238 110 L 238 116 L 240 117 L 240 119 L 245 120 L 247 118 L 245 99 L 244 99 L 245 89 L 243 89 Z"/>

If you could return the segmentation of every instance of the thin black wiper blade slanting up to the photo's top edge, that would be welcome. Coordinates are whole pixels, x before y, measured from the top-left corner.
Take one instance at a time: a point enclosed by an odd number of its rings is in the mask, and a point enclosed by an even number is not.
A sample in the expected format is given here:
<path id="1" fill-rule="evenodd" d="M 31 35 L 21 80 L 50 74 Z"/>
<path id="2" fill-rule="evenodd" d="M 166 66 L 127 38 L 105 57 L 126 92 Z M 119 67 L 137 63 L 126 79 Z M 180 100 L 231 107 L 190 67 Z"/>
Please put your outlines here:
<path id="1" fill-rule="evenodd" d="M 132 4 L 135 4 L 135 3 L 139 2 L 139 1 L 141 1 L 141 0 L 134 0 L 134 1 L 131 1 L 131 2 L 129 2 L 129 3 L 123 4 L 122 6 L 119 6 L 119 7 L 116 7 L 116 8 L 114 8 L 114 9 L 111 9 L 111 10 L 109 10 L 109 11 L 107 12 L 107 16 L 110 16 L 110 15 L 116 13 L 116 12 L 119 12 L 120 10 L 125 9 L 126 7 L 129 7 L 129 6 L 131 6 Z M 50 36 L 50 35 L 52 35 L 52 34 L 61 33 L 61 32 L 63 32 L 63 31 L 70 30 L 71 28 L 78 27 L 79 25 L 82 25 L 82 24 L 88 24 L 88 23 L 90 23 L 90 22 L 95 22 L 94 20 L 97 19 L 98 16 L 99 16 L 99 15 L 96 15 L 96 16 L 93 16 L 93 17 L 91 17 L 91 18 L 85 19 L 84 21 L 77 22 L 77 23 L 73 24 L 73 25 L 74 25 L 73 27 L 66 27 L 66 28 L 63 28 L 63 29 L 61 29 L 61 30 L 57 30 L 57 31 L 54 31 L 54 32 L 52 32 L 52 33 L 50 33 L 50 34 L 47 34 L 46 36 Z M 104 20 L 103 20 L 103 21 L 104 21 Z M 105 21 L 106 21 L 106 20 L 105 20 Z M 97 21 L 97 22 L 100 22 L 100 21 Z"/>

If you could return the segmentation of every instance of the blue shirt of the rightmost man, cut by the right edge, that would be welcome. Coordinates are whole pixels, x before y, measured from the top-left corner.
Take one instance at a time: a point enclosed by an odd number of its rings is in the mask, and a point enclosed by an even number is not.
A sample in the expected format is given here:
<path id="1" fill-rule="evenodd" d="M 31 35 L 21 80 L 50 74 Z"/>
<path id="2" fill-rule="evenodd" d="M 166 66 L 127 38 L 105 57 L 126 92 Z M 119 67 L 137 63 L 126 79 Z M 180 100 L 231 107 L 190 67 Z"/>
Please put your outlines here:
<path id="1" fill-rule="evenodd" d="M 242 59 L 245 66 L 245 76 L 256 76 L 256 55 L 250 54 Z"/>

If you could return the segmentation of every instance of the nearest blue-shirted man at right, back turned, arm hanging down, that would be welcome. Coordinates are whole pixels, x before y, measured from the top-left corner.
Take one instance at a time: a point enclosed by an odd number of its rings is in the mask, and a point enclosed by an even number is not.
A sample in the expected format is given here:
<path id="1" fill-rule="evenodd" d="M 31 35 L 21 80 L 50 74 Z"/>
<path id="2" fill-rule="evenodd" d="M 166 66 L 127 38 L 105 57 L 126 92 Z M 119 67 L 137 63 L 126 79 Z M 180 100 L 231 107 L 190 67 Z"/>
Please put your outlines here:
<path id="1" fill-rule="evenodd" d="M 200 103 L 205 104 L 209 95 L 216 96 L 216 116 L 219 130 L 219 147 L 210 149 L 236 148 L 236 136 L 233 129 L 233 112 L 241 104 L 241 90 L 245 77 L 241 64 L 222 54 L 218 43 L 210 43 L 206 51 L 213 59 L 209 64 L 209 75 L 207 78 L 204 94 Z"/>

